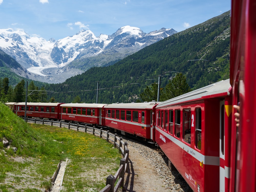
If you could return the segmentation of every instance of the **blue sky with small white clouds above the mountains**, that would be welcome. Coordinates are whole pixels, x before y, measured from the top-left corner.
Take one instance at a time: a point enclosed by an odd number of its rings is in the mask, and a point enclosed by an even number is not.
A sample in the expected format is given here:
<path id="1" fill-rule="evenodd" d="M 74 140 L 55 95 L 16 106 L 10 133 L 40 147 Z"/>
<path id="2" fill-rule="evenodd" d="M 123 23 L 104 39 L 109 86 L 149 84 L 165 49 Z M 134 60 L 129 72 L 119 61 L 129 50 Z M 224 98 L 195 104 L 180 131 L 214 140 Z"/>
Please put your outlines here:
<path id="1" fill-rule="evenodd" d="M 130 25 L 143 32 L 183 31 L 231 8 L 231 0 L 0 0 L 0 28 L 56 40 L 90 29 L 111 35 Z"/>

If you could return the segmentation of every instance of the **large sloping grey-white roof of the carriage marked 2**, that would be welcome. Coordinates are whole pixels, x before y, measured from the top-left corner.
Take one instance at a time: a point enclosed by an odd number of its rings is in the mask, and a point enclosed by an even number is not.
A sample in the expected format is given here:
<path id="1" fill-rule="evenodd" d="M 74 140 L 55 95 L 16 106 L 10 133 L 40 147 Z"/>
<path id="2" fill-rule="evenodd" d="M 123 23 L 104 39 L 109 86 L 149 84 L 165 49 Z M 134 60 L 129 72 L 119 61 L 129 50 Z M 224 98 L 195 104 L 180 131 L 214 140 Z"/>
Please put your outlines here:
<path id="1" fill-rule="evenodd" d="M 202 87 L 200 89 L 185 93 L 178 97 L 163 101 L 157 108 L 163 107 L 165 105 L 172 105 L 183 103 L 187 101 L 199 100 L 199 99 L 209 99 L 214 97 L 223 97 L 225 95 L 230 95 L 230 82 L 229 79 L 219 81 L 217 83 L 210 84 L 208 86 Z"/>

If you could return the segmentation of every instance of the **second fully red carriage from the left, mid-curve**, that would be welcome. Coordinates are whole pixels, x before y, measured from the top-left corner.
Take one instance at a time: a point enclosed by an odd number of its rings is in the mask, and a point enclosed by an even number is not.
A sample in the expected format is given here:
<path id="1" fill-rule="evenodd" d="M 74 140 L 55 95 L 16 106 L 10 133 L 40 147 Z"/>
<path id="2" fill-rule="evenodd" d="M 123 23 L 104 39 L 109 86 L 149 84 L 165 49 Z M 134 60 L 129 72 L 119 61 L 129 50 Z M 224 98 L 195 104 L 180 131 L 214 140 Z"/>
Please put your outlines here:
<path id="1" fill-rule="evenodd" d="M 104 106 L 97 103 L 64 103 L 61 104 L 61 119 L 72 123 L 104 125 Z"/>

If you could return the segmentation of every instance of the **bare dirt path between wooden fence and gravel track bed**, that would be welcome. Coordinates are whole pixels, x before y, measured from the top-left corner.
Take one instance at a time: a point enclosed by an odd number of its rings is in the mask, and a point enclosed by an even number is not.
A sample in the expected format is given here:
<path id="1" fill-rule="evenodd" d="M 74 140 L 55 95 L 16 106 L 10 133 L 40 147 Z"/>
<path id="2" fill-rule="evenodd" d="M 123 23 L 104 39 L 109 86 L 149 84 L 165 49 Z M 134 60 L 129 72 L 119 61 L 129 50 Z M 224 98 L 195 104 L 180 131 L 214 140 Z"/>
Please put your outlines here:
<path id="1" fill-rule="evenodd" d="M 130 171 L 125 173 L 123 191 L 168 191 L 154 167 L 131 147 L 129 147 L 128 169 Z"/>

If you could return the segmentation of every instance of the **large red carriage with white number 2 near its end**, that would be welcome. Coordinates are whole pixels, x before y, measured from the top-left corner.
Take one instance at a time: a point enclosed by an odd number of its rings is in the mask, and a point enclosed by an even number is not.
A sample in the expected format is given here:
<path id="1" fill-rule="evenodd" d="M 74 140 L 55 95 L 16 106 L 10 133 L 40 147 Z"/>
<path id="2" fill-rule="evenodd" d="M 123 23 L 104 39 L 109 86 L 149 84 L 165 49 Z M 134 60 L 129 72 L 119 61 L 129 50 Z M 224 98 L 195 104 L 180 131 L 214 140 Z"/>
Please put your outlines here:
<path id="1" fill-rule="evenodd" d="M 156 143 L 194 191 L 229 187 L 231 112 L 229 79 L 156 106 Z"/>

